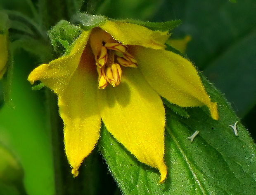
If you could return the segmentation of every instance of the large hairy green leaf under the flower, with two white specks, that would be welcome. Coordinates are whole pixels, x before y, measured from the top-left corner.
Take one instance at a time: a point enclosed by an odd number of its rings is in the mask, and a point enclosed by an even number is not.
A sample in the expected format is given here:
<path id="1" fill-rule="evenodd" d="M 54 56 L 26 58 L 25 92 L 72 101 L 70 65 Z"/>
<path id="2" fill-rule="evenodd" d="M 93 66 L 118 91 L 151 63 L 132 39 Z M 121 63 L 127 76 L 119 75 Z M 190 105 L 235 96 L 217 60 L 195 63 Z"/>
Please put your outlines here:
<path id="1" fill-rule="evenodd" d="M 247 130 L 238 123 L 238 136 L 230 124 L 239 121 L 226 99 L 204 77 L 204 86 L 218 102 L 220 119 L 206 107 L 187 109 L 183 118 L 167 109 L 166 154 L 168 176 L 158 184 L 159 173 L 137 161 L 102 128 L 100 151 L 124 194 L 254 194 L 256 150 Z M 190 142 L 196 130 L 199 135 Z"/>

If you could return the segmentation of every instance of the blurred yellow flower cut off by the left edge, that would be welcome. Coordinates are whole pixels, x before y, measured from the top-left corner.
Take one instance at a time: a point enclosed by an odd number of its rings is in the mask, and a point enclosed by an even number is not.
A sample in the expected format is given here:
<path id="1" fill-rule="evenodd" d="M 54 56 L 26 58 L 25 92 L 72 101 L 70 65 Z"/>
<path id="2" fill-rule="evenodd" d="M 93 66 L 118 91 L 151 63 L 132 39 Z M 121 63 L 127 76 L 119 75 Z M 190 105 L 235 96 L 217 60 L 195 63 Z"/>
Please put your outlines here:
<path id="1" fill-rule="evenodd" d="M 0 79 L 6 72 L 6 63 L 8 59 L 7 49 L 7 35 L 8 33 L 0 34 Z"/>

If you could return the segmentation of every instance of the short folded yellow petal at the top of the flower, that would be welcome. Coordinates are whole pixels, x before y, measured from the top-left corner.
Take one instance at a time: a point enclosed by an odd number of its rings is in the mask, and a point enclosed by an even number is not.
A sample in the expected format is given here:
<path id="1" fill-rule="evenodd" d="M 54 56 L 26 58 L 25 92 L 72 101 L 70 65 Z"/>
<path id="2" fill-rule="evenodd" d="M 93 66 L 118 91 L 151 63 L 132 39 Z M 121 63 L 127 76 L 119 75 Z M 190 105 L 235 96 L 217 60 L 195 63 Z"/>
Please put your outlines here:
<path id="1" fill-rule="evenodd" d="M 164 43 L 169 37 L 167 31 L 153 31 L 144 26 L 119 21 L 106 21 L 100 28 L 124 45 L 140 45 L 152 49 L 164 49 Z"/>

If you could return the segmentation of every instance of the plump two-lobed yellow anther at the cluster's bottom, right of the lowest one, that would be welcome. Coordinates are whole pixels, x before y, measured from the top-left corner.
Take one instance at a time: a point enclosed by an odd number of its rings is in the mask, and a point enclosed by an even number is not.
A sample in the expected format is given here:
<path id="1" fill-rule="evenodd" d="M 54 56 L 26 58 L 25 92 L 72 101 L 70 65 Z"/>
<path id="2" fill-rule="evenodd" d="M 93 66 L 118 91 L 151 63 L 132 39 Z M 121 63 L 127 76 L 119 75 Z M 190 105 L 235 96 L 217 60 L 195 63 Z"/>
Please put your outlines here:
<path id="1" fill-rule="evenodd" d="M 106 78 L 107 81 L 113 86 L 118 86 L 121 82 L 122 70 L 119 64 L 114 63 L 107 67 Z"/>

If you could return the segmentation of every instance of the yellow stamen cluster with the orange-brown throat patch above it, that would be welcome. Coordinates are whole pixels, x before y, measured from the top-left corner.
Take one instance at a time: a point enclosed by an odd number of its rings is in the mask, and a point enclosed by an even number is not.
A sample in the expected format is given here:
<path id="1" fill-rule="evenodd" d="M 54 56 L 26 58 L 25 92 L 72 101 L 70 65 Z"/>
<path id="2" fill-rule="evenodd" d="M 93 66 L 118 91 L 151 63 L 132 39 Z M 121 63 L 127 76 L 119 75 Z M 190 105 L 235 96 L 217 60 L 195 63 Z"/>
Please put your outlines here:
<path id="1" fill-rule="evenodd" d="M 120 84 L 122 77 L 121 66 L 137 67 L 137 61 L 128 53 L 128 46 L 117 42 L 104 30 L 94 28 L 89 41 L 95 56 L 99 89 L 104 89 L 108 84 L 113 87 Z"/>

